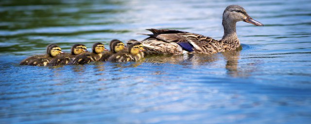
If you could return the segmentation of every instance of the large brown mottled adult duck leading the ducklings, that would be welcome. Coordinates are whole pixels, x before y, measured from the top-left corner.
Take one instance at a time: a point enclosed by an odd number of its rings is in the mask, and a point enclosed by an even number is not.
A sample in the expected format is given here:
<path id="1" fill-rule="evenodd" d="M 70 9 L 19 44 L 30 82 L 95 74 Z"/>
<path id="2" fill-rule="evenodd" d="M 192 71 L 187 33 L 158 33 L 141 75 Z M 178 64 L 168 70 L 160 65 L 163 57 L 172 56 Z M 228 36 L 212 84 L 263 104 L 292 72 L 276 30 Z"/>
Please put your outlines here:
<path id="1" fill-rule="evenodd" d="M 221 40 L 185 31 L 147 29 L 153 34 L 144 34 L 149 37 L 142 40 L 141 43 L 147 54 L 179 55 L 188 52 L 215 54 L 226 50 L 232 51 L 240 47 L 240 40 L 236 33 L 236 23 L 239 21 L 263 26 L 248 16 L 241 6 L 229 5 L 223 13 L 224 36 Z M 129 41 L 128 43 L 135 42 Z"/>

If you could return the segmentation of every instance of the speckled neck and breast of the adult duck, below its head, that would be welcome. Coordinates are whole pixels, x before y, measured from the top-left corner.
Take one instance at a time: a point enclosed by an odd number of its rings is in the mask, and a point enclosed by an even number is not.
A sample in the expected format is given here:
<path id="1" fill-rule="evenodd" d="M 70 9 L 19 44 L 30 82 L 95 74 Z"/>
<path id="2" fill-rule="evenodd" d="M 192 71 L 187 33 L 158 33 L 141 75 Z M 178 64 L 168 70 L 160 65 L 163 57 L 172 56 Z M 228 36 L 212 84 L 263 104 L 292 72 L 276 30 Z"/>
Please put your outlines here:
<path id="1" fill-rule="evenodd" d="M 235 50 L 240 47 L 240 40 L 237 36 L 236 22 L 223 20 L 224 36 L 222 41 L 226 44 L 226 50 Z"/>

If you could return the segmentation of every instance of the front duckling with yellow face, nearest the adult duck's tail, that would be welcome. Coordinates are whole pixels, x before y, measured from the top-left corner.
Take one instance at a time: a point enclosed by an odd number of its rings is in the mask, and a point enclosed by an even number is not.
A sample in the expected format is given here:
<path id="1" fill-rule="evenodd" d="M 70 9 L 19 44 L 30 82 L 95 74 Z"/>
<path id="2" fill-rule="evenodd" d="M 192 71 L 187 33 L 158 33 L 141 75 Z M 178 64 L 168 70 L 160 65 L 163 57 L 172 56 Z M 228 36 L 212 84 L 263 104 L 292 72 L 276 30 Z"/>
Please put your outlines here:
<path id="1" fill-rule="evenodd" d="M 144 49 L 140 48 L 141 43 L 134 43 L 128 47 L 128 52 L 118 52 L 113 56 L 109 57 L 108 61 L 110 62 L 136 62 L 142 58 L 139 52 L 142 52 Z"/>

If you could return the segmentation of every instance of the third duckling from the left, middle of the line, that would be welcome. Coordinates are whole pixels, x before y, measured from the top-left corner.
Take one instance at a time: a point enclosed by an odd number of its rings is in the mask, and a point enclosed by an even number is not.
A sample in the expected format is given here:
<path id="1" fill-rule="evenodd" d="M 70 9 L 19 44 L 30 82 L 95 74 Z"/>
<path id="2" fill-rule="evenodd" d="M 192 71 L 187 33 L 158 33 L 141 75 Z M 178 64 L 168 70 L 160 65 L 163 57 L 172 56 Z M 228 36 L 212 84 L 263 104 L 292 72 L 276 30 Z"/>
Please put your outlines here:
<path id="1" fill-rule="evenodd" d="M 108 51 L 108 49 L 105 49 L 102 43 L 95 43 L 92 47 L 92 53 L 77 55 L 69 64 L 87 64 L 89 62 L 99 61 L 104 51 Z"/>

